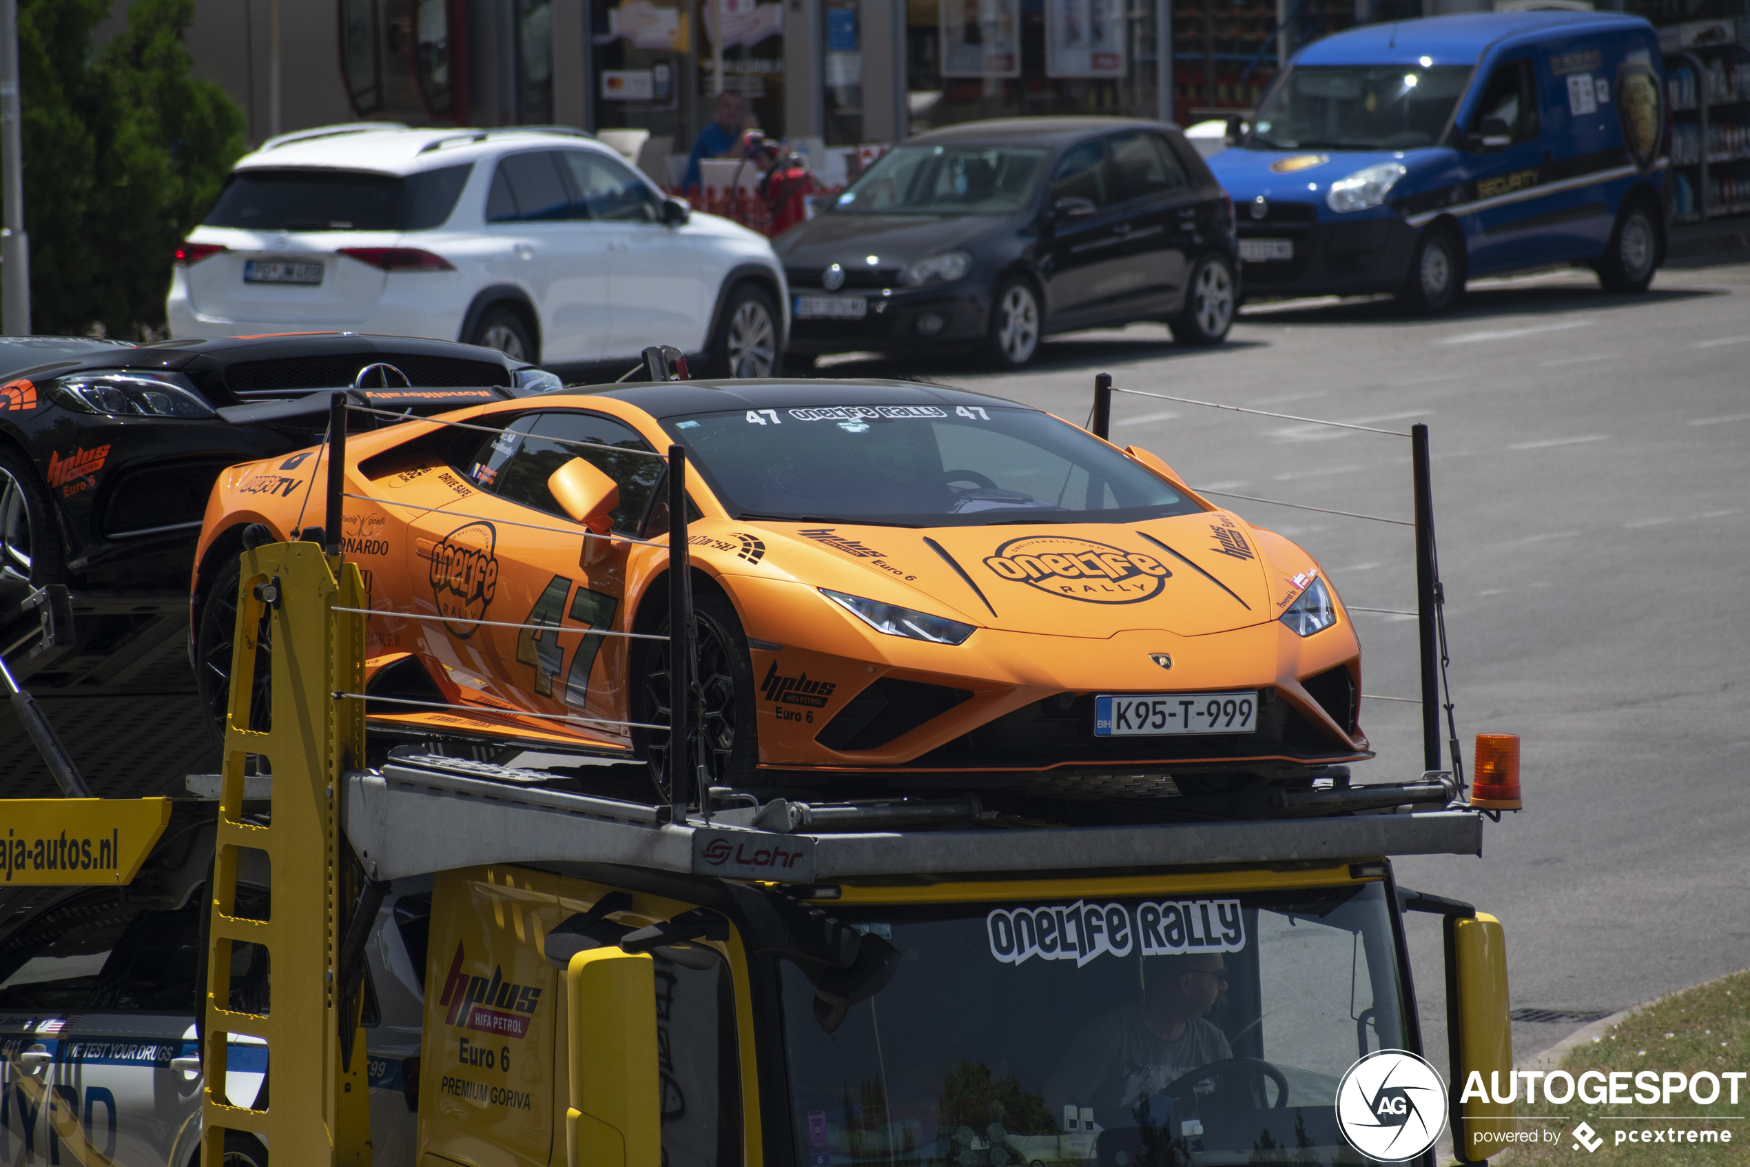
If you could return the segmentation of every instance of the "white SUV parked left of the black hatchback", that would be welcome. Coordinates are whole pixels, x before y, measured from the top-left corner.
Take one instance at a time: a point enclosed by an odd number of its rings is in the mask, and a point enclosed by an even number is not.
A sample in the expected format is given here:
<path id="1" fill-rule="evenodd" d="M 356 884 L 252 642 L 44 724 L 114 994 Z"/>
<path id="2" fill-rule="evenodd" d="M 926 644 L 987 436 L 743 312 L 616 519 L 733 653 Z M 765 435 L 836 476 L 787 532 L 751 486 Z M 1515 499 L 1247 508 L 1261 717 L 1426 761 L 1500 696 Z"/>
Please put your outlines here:
<path id="1" fill-rule="evenodd" d="M 674 345 L 710 376 L 777 371 L 789 322 L 765 236 L 690 212 L 553 128 L 346 124 L 242 157 L 177 250 L 172 334 L 354 331 L 541 364 Z"/>

